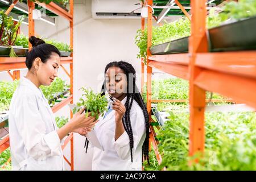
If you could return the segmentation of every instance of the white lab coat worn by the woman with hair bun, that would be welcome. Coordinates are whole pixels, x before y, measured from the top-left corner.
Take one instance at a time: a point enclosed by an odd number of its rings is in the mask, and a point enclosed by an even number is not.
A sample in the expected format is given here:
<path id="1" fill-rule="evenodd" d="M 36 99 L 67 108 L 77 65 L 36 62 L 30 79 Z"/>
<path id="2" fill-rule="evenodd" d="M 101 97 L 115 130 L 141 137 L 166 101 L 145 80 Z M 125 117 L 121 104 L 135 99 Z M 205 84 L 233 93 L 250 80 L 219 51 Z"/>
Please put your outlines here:
<path id="1" fill-rule="evenodd" d="M 13 170 L 64 170 L 55 116 L 42 91 L 25 77 L 10 104 Z"/>

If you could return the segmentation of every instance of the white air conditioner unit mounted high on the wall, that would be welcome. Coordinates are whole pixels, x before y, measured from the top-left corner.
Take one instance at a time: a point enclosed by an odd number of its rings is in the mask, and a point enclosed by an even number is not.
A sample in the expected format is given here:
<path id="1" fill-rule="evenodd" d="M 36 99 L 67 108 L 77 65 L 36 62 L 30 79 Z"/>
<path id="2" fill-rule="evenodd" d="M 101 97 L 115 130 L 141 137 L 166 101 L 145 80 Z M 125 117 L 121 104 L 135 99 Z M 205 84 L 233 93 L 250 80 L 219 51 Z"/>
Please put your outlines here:
<path id="1" fill-rule="evenodd" d="M 141 1 L 139 0 L 92 0 L 94 19 L 139 19 Z"/>

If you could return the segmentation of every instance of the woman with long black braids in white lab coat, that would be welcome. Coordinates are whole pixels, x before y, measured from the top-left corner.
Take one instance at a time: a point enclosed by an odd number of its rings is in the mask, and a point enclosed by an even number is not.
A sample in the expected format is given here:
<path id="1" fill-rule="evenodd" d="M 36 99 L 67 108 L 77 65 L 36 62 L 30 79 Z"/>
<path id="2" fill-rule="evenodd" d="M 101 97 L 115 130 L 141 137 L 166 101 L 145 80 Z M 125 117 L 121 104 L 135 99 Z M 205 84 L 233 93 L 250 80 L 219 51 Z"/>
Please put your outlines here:
<path id="1" fill-rule="evenodd" d="M 94 128 L 104 151 L 94 147 L 93 170 L 141 170 L 148 161 L 148 113 L 135 81 L 131 64 L 106 65 L 102 94 L 113 102 Z"/>

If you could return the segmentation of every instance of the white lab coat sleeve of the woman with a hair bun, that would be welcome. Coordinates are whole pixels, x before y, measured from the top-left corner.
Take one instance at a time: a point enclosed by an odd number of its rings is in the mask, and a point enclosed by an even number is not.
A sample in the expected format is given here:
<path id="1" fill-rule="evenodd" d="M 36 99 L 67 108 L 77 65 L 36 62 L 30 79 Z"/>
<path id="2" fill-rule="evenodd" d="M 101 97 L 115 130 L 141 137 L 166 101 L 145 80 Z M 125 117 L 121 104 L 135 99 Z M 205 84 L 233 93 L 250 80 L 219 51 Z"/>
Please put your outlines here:
<path id="1" fill-rule="evenodd" d="M 61 155 L 59 135 L 56 130 L 46 133 L 35 97 L 22 96 L 15 117 L 28 155 L 35 160 Z"/>

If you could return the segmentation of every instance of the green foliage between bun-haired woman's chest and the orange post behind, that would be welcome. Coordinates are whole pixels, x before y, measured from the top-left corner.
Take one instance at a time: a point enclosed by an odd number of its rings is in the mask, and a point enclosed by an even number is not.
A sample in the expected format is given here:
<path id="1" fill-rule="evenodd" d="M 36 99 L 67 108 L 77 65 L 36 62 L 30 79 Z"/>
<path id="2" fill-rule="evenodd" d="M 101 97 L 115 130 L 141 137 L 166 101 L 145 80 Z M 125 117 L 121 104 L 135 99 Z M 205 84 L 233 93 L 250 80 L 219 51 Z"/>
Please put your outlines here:
<path id="1" fill-rule="evenodd" d="M 40 86 L 44 96 L 48 100 L 49 104 L 53 106 L 55 104 L 55 97 L 58 93 L 63 93 L 69 89 L 69 85 L 65 83 L 64 80 L 57 77 L 49 86 Z M 63 97 L 63 96 L 61 96 Z"/>

